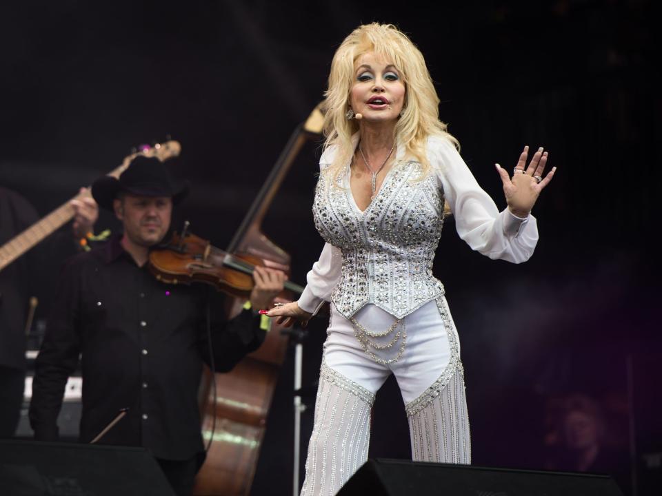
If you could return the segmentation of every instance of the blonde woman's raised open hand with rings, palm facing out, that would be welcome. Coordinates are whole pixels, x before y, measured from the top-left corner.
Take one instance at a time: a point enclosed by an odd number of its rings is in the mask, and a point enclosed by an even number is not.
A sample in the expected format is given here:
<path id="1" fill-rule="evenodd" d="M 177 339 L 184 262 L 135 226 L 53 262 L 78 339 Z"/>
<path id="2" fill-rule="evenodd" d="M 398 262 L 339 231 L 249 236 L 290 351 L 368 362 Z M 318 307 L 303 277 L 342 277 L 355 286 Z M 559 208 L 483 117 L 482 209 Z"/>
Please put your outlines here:
<path id="1" fill-rule="evenodd" d="M 543 177 L 548 158 L 548 153 L 543 152 L 543 147 L 540 147 L 534 153 L 529 167 L 525 169 L 528 154 L 529 147 L 525 146 L 519 156 L 517 165 L 515 165 L 512 178 L 508 176 L 508 172 L 501 165 L 495 164 L 496 172 L 499 172 L 499 176 L 501 176 L 503 194 L 505 194 L 505 201 L 508 203 L 508 208 L 513 215 L 518 217 L 529 215 L 540 192 L 550 183 L 554 177 L 554 172 L 556 172 L 556 167 L 552 167 L 552 170 Z"/>

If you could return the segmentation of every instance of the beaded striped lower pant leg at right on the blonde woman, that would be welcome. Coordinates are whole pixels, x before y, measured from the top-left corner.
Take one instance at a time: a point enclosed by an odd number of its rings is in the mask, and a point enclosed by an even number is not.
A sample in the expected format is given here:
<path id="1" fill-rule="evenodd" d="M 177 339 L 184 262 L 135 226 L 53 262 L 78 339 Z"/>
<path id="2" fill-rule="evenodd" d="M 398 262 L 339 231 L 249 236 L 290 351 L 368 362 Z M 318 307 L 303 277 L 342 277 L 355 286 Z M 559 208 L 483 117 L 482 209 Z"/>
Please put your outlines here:
<path id="1" fill-rule="evenodd" d="M 426 401 L 407 407 L 412 458 L 417 462 L 470 464 L 469 417 L 461 366 L 442 389 L 435 389 L 433 384 L 425 395 Z"/>

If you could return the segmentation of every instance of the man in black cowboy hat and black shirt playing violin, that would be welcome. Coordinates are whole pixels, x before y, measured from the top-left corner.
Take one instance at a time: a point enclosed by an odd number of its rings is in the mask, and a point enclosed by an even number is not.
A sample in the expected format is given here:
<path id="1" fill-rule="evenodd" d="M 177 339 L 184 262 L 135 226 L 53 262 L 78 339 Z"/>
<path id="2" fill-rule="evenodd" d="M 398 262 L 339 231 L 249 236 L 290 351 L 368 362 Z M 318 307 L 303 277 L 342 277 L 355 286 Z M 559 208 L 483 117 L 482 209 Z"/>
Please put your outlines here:
<path id="1" fill-rule="evenodd" d="M 145 446 L 179 495 L 190 495 L 204 459 L 197 391 L 203 361 L 229 371 L 265 338 L 259 309 L 283 289 L 281 271 L 257 268 L 250 307 L 223 317 L 223 296 L 207 285 L 166 285 L 148 269 L 149 252 L 188 193 L 157 158 L 138 156 L 119 180 L 92 185 L 123 236 L 70 260 L 37 358 L 30 422 L 54 440 L 68 375 L 81 354 L 81 442 L 90 442 L 121 409 L 126 416 L 100 443 Z"/>

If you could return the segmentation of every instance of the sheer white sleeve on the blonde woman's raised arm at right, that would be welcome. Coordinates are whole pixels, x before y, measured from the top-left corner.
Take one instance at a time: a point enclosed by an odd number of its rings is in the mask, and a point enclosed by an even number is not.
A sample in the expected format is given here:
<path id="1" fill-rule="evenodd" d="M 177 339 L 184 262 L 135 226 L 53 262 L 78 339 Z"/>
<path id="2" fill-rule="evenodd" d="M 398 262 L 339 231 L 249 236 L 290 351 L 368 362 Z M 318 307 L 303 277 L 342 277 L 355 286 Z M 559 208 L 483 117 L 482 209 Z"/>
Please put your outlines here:
<path id="1" fill-rule="evenodd" d="M 538 242 L 536 218 L 532 215 L 516 217 L 508 207 L 499 212 L 494 200 L 481 189 L 448 140 L 430 138 L 428 154 L 460 238 L 472 249 L 493 259 L 514 263 L 528 260 Z"/>

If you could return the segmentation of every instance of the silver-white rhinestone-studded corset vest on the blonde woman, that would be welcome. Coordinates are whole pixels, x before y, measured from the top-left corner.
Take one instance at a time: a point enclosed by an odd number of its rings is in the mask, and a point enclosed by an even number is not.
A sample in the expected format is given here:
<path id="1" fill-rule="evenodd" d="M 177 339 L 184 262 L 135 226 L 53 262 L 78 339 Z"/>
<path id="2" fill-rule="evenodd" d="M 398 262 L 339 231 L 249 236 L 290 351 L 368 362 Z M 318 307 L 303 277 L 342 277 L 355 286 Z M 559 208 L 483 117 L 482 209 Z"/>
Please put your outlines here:
<path id="1" fill-rule="evenodd" d="M 320 174 L 313 216 L 319 234 L 342 251 L 331 300 L 345 318 L 368 303 L 403 318 L 443 294 L 432 276 L 443 192 L 434 174 L 420 180 L 421 170 L 418 162 L 395 163 L 363 212 L 352 197 L 349 169 L 337 185 Z"/>

